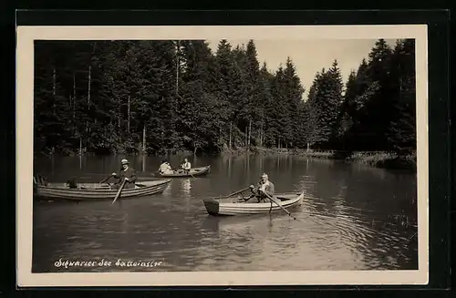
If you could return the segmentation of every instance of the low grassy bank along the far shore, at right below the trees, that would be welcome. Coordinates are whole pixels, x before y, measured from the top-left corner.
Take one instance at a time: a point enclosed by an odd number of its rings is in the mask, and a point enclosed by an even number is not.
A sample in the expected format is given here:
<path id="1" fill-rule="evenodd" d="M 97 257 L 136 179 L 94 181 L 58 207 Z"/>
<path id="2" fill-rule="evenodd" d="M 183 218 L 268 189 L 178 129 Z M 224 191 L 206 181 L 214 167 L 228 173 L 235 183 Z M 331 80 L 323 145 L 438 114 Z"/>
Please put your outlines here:
<path id="1" fill-rule="evenodd" d="M 276 149 L 264 147 L 223 149 L 223 155 L 254 154 L 264 156 L 275 155 L 298 155 L 316 159 L 339 159 L 351 162 L 359 162 L 372 167 L 390 170 L 417 170 L 416 153 L 398 155 L 392 152 L 382 151 L 355 151 L 343 152 L 337 150 L 313 150 L 313 149 Z"/>

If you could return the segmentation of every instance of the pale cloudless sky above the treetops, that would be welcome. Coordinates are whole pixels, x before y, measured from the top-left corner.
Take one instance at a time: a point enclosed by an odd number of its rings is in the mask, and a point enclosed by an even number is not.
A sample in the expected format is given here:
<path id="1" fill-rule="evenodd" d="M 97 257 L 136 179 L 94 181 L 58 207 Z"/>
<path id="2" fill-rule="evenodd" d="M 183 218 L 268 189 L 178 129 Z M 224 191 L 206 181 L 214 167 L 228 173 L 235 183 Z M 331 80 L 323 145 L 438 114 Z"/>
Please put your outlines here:
<path id="1" fill-rule="evenodd" d="M 304 97 L 310 88 L 316 72 L 323 67 L 331 67 L 337 59 L 344 84 L 351 70 L 357 70 L 363 58 L 368 59 L 370 49 L 377 39 L 329 39 L 329 40 L 254 40 L 260 67 L 263 62 L 270 71 L 275 71 L 280 64 L 285 67 L 286 57 L 290 57 L 295 65 L 301 84 L 306 88 Z M 207 40 L 212 52 L 217 50 L 219 40 Z M 248 39 L 228 40 L 233 46 L 247 45 Z M 387 39 L 390 46 L 396 44 L 395 39 Z"/>

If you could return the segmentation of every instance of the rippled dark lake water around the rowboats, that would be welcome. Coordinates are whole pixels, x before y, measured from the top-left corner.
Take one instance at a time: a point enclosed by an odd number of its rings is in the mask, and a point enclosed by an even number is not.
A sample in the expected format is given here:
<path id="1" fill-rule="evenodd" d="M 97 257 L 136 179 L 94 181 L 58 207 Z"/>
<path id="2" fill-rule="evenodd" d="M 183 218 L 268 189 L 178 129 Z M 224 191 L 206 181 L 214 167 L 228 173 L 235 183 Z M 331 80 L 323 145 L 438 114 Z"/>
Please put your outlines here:
<path id="1" fill-rule="evenodd" d="M 99 181 L 119 169 L 120 159 L 36 159 L 35 170 L 49 181 Z M 129 159 L 139 175 L 157 170 L 161 161 Z M 170 161 L 175 167 L 181 159 Z M 191 161 L 210 164 L 211 173 L 173 179 L 162 194 L 113 205 L 35 202 L 32 271 L 417 269 L 416 175 L 286 155 Z M 295 221 L 283 211 L 207 214 L 202 199 L 244 189 L 263 172 L 276 192 L 306 191 L 303 204 L 290 210 Z M 111 265 L 64 268 L 60 259 Z M 116 266 L 119 260 L 126 266 Z M 129 261 L 139 263 L 127 266 Z"/>

